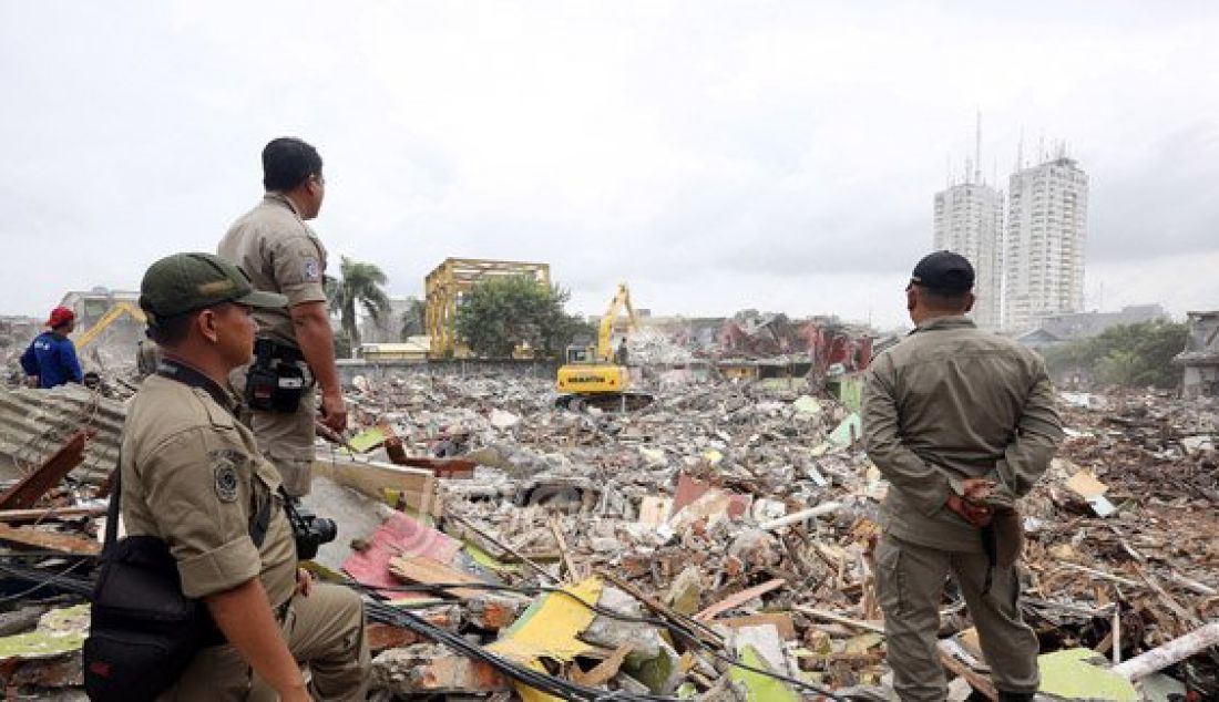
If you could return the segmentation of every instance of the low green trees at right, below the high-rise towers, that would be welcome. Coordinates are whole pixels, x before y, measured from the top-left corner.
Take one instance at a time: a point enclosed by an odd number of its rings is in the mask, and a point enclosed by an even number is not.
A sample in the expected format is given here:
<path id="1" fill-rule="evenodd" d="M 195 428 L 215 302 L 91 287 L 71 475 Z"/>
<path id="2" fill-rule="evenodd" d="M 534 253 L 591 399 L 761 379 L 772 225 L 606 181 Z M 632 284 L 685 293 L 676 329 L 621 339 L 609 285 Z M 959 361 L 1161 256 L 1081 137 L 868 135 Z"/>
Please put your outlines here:
<path id="1" fill-rule="evenodd" d="M 1111 385 L 1174 388 L 1179 372 L 1173 356 L 1185 349 L 1189 330 L 1175 322 L 1141 322 L 1111 327 L 1046 352 L 1051 373 L 1084 374 Z"/>

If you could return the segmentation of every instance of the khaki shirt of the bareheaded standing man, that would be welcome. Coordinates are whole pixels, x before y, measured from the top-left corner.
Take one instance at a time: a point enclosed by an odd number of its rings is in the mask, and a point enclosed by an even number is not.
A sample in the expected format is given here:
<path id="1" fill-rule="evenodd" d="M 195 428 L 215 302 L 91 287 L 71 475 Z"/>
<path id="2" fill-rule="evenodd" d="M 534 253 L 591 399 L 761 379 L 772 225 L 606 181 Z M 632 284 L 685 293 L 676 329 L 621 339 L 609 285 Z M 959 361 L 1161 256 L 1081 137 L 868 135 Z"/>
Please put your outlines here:
<path id="1" fill-rule="evenodd" d="M 216 254 L 245 271 L 255 289 L 286 296 L 289 307 L 325 301 L 325 247 L 279 193 L 238 218 Z M 261 335 L 299 346 L 288 310 L 255 310 L 254 317 Z"/>

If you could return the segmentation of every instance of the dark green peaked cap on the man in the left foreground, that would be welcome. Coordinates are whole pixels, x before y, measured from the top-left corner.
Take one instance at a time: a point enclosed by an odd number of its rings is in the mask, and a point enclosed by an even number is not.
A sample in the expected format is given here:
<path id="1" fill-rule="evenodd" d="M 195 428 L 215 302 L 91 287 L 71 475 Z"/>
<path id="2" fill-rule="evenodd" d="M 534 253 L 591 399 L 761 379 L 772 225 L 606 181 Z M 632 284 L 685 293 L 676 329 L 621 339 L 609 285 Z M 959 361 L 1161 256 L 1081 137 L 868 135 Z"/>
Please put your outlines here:
<path id="1" fill-rule="evenodd" d="M 174 254 L 149 266 L 140 283 L 140 307 L 150 322 L 221 302 L 286 307 L 288 299 L 254 289 L 236 266 L 213 254 Z"/>

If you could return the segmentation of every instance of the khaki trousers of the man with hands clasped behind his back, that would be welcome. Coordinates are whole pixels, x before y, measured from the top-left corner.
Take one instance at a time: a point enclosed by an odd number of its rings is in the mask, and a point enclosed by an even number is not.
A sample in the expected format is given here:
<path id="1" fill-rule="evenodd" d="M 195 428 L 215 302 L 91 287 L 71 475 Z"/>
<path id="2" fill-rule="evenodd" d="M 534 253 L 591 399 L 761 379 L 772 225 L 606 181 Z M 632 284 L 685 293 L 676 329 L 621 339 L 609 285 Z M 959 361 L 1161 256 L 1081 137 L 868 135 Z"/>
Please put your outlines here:
<path id="1" fill-rule="evenodd" d="M 884 534 L 875 556 L 889 665 L 894 689 L 903 702 L 941 702 L 947 695 L 936 633 L 944 581 L 950 573 L 978 628 L 995 687 L 1003 692 L 1037 691 L 1037 637 L 1017 607 L 1020 583 L 1015 568 L 996 569 L 990 592 L 983 594 L 990 567 L 985 553 L 940 551 Z"/>

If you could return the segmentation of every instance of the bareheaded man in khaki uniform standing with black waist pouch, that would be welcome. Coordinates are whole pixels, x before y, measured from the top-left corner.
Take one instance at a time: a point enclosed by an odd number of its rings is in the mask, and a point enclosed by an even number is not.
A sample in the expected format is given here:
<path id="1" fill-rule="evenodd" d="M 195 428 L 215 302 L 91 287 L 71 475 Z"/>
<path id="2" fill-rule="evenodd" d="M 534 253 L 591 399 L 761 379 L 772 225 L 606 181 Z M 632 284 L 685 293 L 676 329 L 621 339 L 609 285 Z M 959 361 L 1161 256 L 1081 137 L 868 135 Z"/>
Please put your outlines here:
<path id="1" fill-rule="evenodd" d="M 334 335 L 325 306 L 325 247 L 305 223 L 317 217 L 325 196 L 322 157 L 300 139 L 280 138 L 262 151 L 266 195 L 229 228 L 217 254 L 236 264 L 256 290 L 279 292 L 288 307 L 258 310 L 258 336 L 274 363 L 300 366 L 305 388 L 291 411 L 254 410 L 251 427 L 263 455 L 274 463 L 293 497 L 308 492 L 313 468 L 317 400 L 322 420 L 335 431 L 347 428 L 347 411 L 334 366 Z M 245 388 L 245 372 L 234 385 Z"/>

